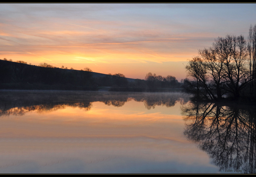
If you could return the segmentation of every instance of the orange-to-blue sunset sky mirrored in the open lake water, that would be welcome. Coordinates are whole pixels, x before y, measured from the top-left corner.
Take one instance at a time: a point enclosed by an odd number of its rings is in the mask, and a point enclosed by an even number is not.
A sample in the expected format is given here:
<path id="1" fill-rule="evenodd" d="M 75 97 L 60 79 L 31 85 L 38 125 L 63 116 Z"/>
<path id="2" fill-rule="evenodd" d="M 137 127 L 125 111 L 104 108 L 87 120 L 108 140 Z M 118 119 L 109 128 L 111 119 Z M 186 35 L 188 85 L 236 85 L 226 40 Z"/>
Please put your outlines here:
<path id="1" fill-rule="evenodd" d="M 90 110 L 1 116 L 1 173 L 217 173 L 183 136 L 175 106 L 92 102 Z"/>

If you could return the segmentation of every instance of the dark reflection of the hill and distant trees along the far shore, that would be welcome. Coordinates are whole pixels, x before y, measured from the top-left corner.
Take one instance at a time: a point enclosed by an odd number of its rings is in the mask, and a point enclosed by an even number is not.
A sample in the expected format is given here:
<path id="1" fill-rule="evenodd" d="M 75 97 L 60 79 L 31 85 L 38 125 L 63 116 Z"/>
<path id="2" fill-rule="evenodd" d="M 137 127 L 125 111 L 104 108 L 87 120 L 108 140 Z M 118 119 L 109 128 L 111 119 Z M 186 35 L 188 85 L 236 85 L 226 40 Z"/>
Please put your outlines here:
<path id="1" fill-rule="evenodd" d="M 43 94 L 44 92 L 46 92 L 47 97 Z M 73 92 L 77 93 L 75 97 Z M 56 94 L 56 91 L 43 91 L 43 93 L 33 91 L 28 94 L 26 91 L 6 91 L 2 94 L 0 93 L 0 116 L 10 114 L 22 116 L 26 112 L 35 110 L 37 113 L 56 111 L 65 109 L 67 106 L 89 111 L 92 108 L 92 102 L 95 101 L 103 102 L 108 106 L 122 107 L 126 102 L 135 100 L 144 102 L 145 108 L 150 110 L 154 109 L 155 106 L 173 107 L 177 102 L 186 104 L 189 100 L 186 95 L 181 95 L 180 93 L 123 94 L 122 92 L 110 92 L 103 94 L 101 92 L 73 92 L 62 91 Z"/>

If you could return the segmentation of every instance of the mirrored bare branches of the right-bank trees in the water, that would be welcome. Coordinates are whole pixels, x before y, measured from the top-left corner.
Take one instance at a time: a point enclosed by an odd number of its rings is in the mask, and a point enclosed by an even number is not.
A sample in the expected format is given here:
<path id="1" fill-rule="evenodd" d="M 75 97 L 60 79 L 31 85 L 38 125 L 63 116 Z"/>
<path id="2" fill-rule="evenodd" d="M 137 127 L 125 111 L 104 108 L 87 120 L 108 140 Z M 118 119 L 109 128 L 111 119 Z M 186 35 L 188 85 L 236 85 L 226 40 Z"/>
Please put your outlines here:
<path id="1" fill-rule="evenodd" d="M 256 173 L 255 107 L 190 102 L 182 114 L 185 136 L 198 143 L 221 172 Z"/>

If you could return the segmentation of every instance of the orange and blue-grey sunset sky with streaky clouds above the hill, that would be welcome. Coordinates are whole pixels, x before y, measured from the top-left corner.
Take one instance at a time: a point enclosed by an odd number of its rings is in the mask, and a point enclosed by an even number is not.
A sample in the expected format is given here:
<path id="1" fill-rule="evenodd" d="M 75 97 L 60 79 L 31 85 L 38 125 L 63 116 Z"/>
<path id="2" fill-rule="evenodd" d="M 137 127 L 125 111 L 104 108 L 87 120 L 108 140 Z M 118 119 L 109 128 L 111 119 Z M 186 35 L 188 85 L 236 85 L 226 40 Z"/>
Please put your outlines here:
<path id="1" fill-rule="evenodd" d="M 243 35 L 256 4 L 0 4 L 0 59 L 144 79 L 186 78 L 187 59 Z"/>

